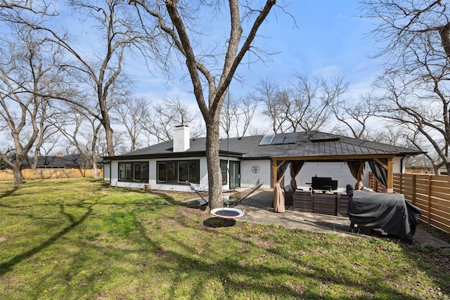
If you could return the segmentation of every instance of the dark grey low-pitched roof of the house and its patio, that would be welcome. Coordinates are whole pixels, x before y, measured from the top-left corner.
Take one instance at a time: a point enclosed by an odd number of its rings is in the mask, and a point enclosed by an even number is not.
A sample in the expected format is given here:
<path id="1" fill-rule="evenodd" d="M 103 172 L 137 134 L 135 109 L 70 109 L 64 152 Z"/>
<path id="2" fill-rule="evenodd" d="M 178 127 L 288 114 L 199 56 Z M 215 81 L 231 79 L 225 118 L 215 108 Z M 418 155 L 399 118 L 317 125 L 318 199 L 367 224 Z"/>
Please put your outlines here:
<path id="1" fill-rule="evenodd" d="M 285 133 L 276 134 L 274 141 L 283 141 L 283 136 L 280 136 L 282 134 Z M 221 155 L 236 156 L 242 159 L 294 155 L 330 155 L 333 153 L 335 155 L 395 154 L 400 156 L 423 153 L 414 149 L 364 141 L 320 131 L 299 132 L 295 143 L 259 145 L 262 138 L 264 136 L 222 139 L 219 144 L 219 151 Z M 124 155 L 105 157 L 105 159 L 169 158 L 205 155 L 206 138 L 191 138 L 190 143 L 191 147 L 185 152 L 173 152 L 173 141 L 167 141 L 128 152 Z"/>

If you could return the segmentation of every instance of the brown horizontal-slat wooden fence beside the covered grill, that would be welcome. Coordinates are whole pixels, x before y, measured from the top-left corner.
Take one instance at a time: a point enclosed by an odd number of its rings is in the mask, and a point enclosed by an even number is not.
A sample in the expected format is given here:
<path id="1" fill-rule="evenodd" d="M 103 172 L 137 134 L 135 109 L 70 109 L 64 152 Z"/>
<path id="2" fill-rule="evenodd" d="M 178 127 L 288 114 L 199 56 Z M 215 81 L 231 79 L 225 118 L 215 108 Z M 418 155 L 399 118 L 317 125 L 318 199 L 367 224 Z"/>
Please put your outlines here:
<path id="1" fill-rule="evenodd" d="M 383 192 L 373 174 L 370 187 Z M 394 193 L 420 208 L 420 221 L 450 233 L 450 176 L 394 174 Z"/>

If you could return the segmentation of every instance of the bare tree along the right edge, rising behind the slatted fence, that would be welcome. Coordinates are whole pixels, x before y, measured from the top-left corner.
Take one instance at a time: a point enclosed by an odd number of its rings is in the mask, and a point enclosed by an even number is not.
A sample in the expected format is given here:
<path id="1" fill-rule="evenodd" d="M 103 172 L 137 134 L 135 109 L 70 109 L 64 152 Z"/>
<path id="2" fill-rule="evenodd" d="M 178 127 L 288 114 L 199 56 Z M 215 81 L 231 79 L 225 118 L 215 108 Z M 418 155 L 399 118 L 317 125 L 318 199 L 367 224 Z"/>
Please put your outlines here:
<path id="1" fill-rule="evenodd" d="M 388 58 L 376 86 L 386 91 L 384 117 L 420 133 L 450 174 L 450 20 L 446 1 L 364 1 L 378 20 L 373 39 Z M 434 155 L 430 155 L 432 159 Z"/>

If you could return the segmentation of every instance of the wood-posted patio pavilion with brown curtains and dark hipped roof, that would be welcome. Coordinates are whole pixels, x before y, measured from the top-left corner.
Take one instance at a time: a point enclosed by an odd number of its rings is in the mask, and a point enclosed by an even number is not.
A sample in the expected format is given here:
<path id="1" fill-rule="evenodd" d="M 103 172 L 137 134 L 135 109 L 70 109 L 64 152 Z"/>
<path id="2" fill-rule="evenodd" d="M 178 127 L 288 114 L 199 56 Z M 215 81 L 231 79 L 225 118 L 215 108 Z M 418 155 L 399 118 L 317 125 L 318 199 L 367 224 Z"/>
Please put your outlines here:
<path id="1" fill-rule="evenodd" d="M 355 190 L 364 187 L 363 178 L 366 162 L 378 181 L 385 186 L 387 193 L 393 191 L 394 159 L 399 158 L 400 164 L 407 155 L 418 155 L 420 152 L 407 148 L 386 145 L 381 148 L 380 143 L 361 141 L 349 143 L 340 138 L 330 136 L 314 136 L 299 148 L 295 148 L 281 155 L 271 157 L 274 182 L 274 211 L 285 212 L 285 197 L 281 182 L 285 171 L 289 167 L 290 185 L 293 191 L 297 190 L 295 177 L 300 173 L 304 162 L 346 162 L 356 184 Z M 400 166 L 403 169 L 404 166 Z M 338 179 L 339 178 L 335 178 Z"/>

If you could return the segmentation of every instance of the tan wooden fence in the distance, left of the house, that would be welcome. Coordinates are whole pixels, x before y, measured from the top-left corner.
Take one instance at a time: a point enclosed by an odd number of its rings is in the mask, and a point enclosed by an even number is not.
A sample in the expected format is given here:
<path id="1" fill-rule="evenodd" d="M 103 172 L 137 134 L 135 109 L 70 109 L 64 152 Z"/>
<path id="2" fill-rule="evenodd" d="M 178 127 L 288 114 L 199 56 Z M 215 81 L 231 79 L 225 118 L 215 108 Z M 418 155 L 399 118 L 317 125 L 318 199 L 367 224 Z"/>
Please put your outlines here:
<path id="1" fill-rule="evenodd" d="M 97 169 L 98 177 L 103 177 L 103 170 Z M 22 170 L 22 178 L 27 179 L 49 179 L 49 178 L 94 178 L 94 169 L 37 169 Z M 13 170 L 0 170 L 0 181 L 13 181 Z"/>

